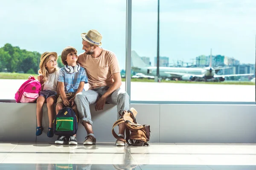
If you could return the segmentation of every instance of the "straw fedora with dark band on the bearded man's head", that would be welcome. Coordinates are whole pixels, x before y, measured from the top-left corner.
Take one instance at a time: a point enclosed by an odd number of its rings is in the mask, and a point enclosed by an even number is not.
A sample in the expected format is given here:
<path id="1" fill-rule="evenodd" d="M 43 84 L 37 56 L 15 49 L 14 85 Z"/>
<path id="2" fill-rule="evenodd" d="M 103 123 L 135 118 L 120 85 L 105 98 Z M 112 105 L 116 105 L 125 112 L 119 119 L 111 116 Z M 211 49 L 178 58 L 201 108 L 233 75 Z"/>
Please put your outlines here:
<path id="1" fill-rule="evenodd" d="M 82 33 L 81 37 L 83 40 L 89 42 L 90 44 L 100 46 L 102 45 L 102 35 L 95 29 L 89 30 L 87 33 Z"/>

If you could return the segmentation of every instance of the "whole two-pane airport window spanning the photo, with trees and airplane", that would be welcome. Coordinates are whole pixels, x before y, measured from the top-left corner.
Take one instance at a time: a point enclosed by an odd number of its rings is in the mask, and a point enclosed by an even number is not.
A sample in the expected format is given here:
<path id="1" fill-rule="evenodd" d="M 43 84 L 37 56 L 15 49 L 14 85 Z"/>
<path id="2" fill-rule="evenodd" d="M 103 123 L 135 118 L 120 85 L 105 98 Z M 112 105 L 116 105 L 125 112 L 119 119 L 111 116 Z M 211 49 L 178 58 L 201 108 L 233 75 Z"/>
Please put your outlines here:
<path id="1" fill-rule="evenodd" d="M 131 101 L 255 102 L 255 8 L 253 0 L 160 0 L 157 79 L 158 0 L 133 0 Z M 126 1 L 10 0 L 0 18 L 0 99 L 37 75 L 44 51 L 82 53 L 80 34 L 90 29 L 116 54 L 125 89 Z"/>

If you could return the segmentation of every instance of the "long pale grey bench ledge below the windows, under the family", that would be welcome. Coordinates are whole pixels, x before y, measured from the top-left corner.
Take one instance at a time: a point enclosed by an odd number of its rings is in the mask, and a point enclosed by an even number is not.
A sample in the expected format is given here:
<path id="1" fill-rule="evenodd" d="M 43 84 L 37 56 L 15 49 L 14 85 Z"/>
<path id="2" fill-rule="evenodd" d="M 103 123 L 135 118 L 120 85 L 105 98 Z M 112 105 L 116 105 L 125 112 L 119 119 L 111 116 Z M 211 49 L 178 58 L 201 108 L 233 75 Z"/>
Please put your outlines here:
<path id="1" fill-rule="evenodd" d="M 137 121 L 148 124 L 150 142 L 172 143 L 256 143 L 256 105 L 189 105 L 131 104 Z M 103 111 L 90 106 L 93 131 L 97 142 L 115 142 L 111 134 L 116 121 L 116 106 L 107 104 Z M 49 126 L 47 106 L 43 108 L 44 132 L 35 136 L 35 103 L 0 103 L 0 141 L 53 142 L 47 137 Z M 87 135 L 79 123 L 78 142 Z"/>

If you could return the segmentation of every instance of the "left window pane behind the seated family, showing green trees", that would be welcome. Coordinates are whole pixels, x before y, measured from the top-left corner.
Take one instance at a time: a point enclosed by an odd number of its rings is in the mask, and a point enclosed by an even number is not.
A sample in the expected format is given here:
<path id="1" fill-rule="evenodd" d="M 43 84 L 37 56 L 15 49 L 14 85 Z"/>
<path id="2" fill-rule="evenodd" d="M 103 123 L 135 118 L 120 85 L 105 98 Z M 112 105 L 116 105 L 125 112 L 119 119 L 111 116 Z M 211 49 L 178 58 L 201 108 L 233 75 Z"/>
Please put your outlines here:
<path id="1" fill-rule="evenodd" d="M 0 99 L 14 99 L 28 75 L 37 75 L 44 51 L 60 56 L 71 45 L 84 52 L 80 34 L 90 29 L 102 34 L 102 48 L 116 54 L 124 75 L 125 19 L 126 1 L 121 0 L 1 2 Z"/>

